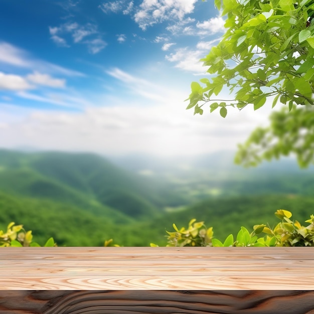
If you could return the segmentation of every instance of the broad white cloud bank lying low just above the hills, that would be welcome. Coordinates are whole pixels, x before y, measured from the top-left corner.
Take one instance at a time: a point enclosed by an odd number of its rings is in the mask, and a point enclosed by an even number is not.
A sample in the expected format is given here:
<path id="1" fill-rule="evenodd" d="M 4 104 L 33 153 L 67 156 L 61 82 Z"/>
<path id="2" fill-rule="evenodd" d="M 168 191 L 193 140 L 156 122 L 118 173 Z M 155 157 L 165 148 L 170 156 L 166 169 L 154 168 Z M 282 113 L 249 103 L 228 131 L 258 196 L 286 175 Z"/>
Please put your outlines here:
<path id="1" fill-rule="evenodd" d="M 267 123 L 269 108 L 231 108 L 223 119 L 218 112 L 193 116 L 185 110 L 182 93 L 168 94 L 160 105 L 123 100 L 115 106 L 89 107 L 82 112 L 18 110 L 0 104 L 0 146 L 31 145 L 42 149 L 86 150 L 102 154 L 149 153 L 157 156 L 208 153 L 236 149 L 250 130 Z M 179 97 L 178 97 L 179 96 Z M 170 106 L 169 103 L 172 105 Z M 0 131 L 1 132 L 1 131 Z M 5 134 L 6 136 L 4 136 Z"/>

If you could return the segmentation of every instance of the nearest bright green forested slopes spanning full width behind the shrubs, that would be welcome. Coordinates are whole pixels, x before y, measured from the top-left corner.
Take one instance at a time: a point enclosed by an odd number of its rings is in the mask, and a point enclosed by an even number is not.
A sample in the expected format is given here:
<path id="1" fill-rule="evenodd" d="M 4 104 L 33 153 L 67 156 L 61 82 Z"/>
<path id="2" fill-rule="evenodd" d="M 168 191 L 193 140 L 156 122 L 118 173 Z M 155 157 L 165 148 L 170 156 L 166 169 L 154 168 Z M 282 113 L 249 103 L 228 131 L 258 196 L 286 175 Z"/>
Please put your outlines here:
<path id="1" fill-rule="evenodd" d="M 103 246 L 104 240 L 113 238 L 123 246 L 149 246 L 167 244 L 167 231 L 174 231 L 172 224 L 187 227 L 192 218 L 213 227 L 215 237 L 224 239 L 237 234 L 241 226 L 252 230 L 253 225 L 277 224 L 277 209 L 290 210 L 292 218 L 301 224 L 314 213 L 314 198 L 289 196 L 247 196 L 208 199 L 186 210 L 165 213 L 164 216 L 145 221 L 114 221 L 99 217 L 75 206 L 49 200 L 14 198 L 0 193 L 0 230 L 11 221 L 31 229 L 34 241 L 44 244 L 53 236 L 58 246 Z"/>

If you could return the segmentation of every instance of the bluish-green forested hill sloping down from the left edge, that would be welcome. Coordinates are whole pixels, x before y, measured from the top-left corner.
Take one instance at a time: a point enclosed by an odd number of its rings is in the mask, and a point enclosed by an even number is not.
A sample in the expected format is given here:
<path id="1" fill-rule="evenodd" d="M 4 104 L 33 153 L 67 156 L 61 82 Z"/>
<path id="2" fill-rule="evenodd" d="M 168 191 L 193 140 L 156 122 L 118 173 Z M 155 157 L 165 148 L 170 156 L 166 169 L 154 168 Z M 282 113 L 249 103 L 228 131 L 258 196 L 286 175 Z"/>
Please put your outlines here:
<path id="1" fill-rule="evenodd" d="M 75 205 L 96 214 L 108 215 L 114 210 L 136 219 L 151 217 L 165 206 L 183 202 L 166 186 L 91 153 L 2 149 L 0 192 Z"/>

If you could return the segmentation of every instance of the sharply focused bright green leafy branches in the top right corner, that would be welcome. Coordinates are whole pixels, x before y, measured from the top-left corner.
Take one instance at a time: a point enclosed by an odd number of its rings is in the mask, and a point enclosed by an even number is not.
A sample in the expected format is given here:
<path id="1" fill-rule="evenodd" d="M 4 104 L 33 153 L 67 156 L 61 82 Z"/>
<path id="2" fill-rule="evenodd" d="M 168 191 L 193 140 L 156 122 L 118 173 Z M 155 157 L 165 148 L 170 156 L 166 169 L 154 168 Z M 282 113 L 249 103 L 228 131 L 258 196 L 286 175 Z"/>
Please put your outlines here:
<path id="1" fill-rule="evenodd" d="M 302 0 L 215 0 L 215 5 L 227 15 L 226 32 L 204 61 L 207 72 L 202 87 L 192 82 L 188 108 L 203 113 L 210 102 L 210 111 L 227 107 L 242 109 L 248 104 L 254 110 L 267 99 L 273 106 L 279 100 L 293 104 L 313 105 L 314 77 L 314 1 Z M 216 100 L 223 88 L 234 99 Z"/>

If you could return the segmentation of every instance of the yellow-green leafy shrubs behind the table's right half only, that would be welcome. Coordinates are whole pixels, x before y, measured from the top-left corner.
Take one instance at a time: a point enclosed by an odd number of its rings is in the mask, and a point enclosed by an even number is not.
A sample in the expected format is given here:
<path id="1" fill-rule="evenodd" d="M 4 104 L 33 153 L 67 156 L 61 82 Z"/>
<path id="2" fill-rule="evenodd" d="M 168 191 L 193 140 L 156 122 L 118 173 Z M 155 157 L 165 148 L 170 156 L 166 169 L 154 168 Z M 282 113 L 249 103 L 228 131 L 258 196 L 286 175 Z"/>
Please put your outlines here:
<path id="1" fill-rule="evenodd" d="M 213 228 L 207 229 L 204 222 L 195 222 L 193 219 L 189 223 L 188 229 L 182 227 L 180 230 L 174 224 L 174 232 L 168 232 L 167 246 L 314 246 L 314 215 L 305 222 L 309 223 L 304 227 L 298 221 L 291 221 L 292 214 L 289 211 L 279 209 L 275 216 L 281 219 L 273 229 L 265 224 L 254 225 L 253 231 L 241 227 L 237 237 L 229 234 L 224 242 L 213 237 Z M 264 237 L 257 235 L 266 233 Z M 156 246 L 151 243 L 150 246 Z"/>

